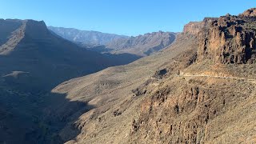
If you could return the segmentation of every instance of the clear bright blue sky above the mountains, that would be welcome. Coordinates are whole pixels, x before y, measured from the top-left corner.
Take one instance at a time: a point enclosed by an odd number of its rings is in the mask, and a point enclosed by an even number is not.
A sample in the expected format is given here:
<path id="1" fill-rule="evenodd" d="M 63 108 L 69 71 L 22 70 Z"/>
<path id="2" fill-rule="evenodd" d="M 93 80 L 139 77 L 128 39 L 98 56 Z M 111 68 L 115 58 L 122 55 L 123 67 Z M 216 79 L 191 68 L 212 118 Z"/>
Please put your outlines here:
<path id="1" fill-rule="evenodd" d="M 136 36 L 181 32 L 188 22 L 240 14 L 252 7 L 256 0 L 0 0 L 0 18 Z"/>

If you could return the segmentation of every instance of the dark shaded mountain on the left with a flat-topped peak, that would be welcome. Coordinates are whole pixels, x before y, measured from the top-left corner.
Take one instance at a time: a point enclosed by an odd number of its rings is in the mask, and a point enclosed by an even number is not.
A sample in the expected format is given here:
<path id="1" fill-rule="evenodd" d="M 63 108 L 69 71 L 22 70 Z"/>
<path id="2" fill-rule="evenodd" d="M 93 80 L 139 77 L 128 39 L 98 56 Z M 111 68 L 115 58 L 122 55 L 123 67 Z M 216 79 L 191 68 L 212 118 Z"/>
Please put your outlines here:
<path id="1" fill-rule="evenodd" d="M 61 143 L 54 134 L 71 119 L 51 110 L 75 114 L 87 106 L 52 93 L 54 86 L 126 64 L 52 34 L 42 21 L 0 19 L 0 33 L 0 143 Z"/>

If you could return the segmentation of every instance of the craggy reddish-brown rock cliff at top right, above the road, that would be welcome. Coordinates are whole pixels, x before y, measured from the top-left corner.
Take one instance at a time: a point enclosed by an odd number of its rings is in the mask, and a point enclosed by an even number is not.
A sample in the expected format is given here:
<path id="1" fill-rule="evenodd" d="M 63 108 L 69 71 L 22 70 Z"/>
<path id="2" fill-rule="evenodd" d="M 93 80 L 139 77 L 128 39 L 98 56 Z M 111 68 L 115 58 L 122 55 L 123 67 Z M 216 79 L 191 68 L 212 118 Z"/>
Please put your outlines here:
<path id="1" fill-rule="evenodd" d="M 238 16 L 226 14 L 216 20 L 205 19 L 199 32 L 198 60 L 217 63 L 256 62 L 255 9 Z"/>

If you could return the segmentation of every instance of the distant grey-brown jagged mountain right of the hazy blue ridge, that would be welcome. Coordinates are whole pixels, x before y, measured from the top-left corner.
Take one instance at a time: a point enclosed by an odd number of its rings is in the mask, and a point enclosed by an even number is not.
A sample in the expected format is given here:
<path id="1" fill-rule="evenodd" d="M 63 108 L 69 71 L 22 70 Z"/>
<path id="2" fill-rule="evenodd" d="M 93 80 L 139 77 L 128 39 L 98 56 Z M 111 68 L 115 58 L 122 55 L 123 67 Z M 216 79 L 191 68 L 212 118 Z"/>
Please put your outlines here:
<path id="1" fill-rule="evenodd" d="M 154 32 L 137 37 L 120 38 L 106 44 L 106 48 L 112 53 L 130 53 L 146 56 L 158 50 L 170 46 L 175 40 L 174 33 L 170 32 Z"/>

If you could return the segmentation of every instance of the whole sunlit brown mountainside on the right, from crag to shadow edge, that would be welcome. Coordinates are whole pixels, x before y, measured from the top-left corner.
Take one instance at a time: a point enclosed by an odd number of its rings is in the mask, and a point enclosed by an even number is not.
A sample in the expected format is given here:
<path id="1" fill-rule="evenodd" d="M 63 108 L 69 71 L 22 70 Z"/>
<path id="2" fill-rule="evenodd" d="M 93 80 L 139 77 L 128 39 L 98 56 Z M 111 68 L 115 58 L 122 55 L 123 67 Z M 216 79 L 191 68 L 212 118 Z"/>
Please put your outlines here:
<path id="1" fill-rule="evenodd" d="M 190 22 L 175 42 L 126 66 L 55 87 L 92 106 L 66 143 L 254 143 L 256 9 Z"/>

